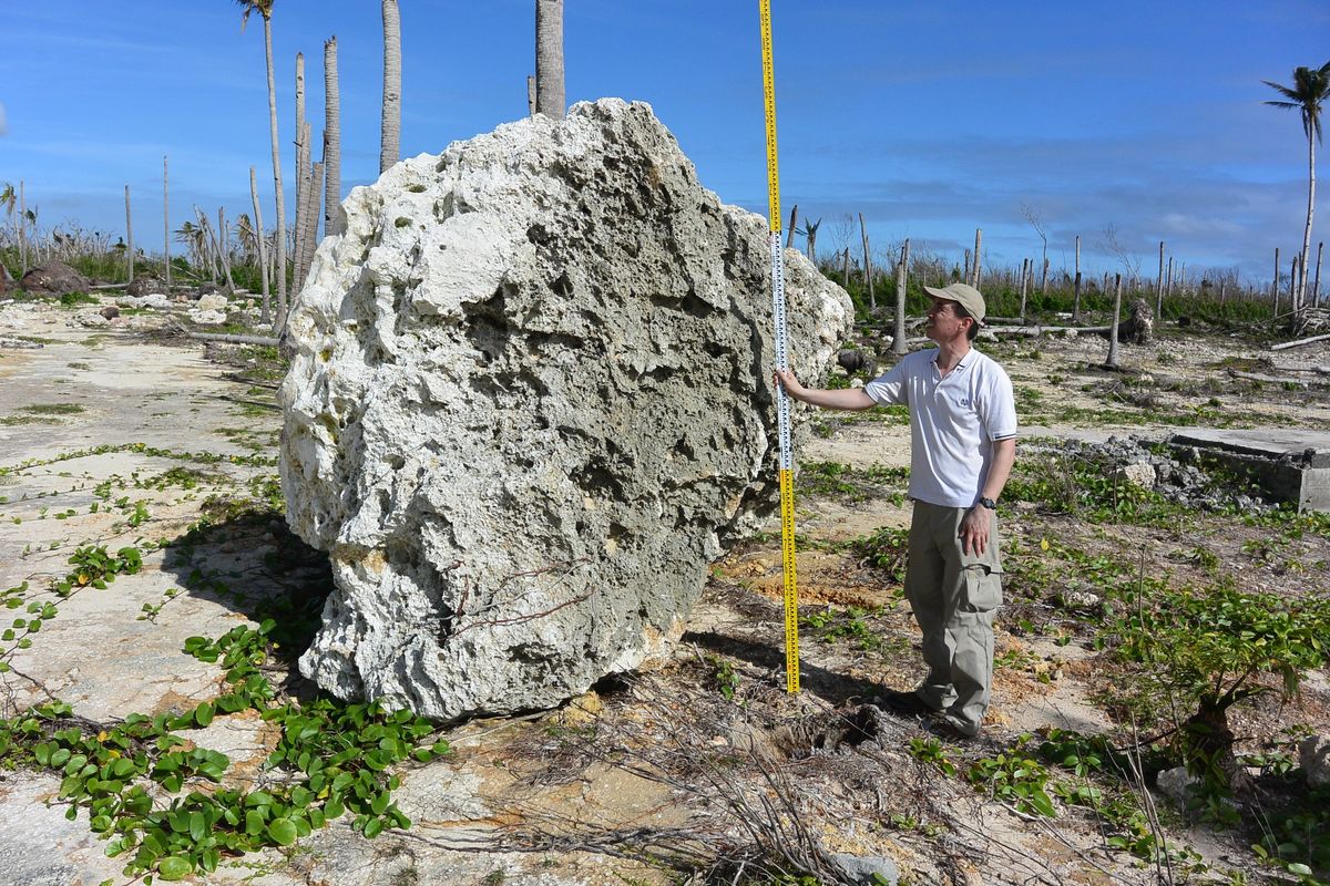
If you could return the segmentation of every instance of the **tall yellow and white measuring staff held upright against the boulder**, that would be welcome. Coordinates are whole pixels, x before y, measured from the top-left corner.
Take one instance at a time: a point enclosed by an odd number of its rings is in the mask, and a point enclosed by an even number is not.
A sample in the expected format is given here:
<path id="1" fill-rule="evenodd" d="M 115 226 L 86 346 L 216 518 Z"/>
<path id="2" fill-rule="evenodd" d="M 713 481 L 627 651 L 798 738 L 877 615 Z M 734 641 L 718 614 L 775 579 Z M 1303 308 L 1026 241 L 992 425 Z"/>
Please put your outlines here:
<path id="1" fill-rule="evenodd" d="M 762 93 L 766 104 L 766 190 L 771 206 L 771 319 L 775 365 L 789 369 L 785 333 L 785 256 L 781 248 L 781 177 L 775 165 L 775 69 L 771 64 L 771 0 L 758 0 L 762 17 Z M 785 565 L 785 689 L 799 691 L 799 586 L 794 570 L 794 464 L 790 448 L 790 396 L 777 385 L 781 436 L 781 559 Z"/>

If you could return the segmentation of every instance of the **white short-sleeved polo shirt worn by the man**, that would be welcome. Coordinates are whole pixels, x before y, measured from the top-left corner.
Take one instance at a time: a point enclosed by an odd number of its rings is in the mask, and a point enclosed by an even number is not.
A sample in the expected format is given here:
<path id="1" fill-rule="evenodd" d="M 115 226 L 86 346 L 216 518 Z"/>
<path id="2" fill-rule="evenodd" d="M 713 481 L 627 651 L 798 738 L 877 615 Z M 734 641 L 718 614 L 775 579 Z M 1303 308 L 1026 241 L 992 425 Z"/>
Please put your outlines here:
<path id="1" fill-rule="evenodd" d="M 974 348 L 943 379 L 938 349 L 906 355 L 863 387 L 878 405 L 910 406 L 910 497 L 971 507 L 983 494 L 992 441 L 1016 436 L 1011 379 Z"/>

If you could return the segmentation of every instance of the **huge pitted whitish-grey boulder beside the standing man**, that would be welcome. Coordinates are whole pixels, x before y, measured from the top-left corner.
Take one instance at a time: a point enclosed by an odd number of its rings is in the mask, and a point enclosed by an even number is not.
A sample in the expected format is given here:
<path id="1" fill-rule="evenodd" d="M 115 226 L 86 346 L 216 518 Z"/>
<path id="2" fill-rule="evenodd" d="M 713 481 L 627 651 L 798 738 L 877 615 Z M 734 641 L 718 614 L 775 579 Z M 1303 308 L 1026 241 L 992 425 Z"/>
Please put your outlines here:
<path id="1" fill-rule="evenodd" d="M 766 221 L 618 100 L 400 162 L 344 209 L 281 392 L 287 517 L 336 582 L 301 671 L 454 719 L 658 656 L 778 502 Z M 850 302 L 785 267 L 811 381 Z"/>

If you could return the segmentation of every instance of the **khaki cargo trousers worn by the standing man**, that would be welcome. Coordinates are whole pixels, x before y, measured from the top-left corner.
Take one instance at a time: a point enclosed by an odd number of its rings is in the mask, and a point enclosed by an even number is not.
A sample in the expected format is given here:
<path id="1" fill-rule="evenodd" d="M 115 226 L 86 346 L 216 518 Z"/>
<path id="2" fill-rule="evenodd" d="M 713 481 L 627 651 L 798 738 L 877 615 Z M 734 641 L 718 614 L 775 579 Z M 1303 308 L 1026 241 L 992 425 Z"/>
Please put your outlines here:
<path id="1" fill-rule="evenodd" d="M 992 696 L 1001 539 L 998 514 L 992 513 L 984 553 L 960 550 L 960 521 L 968 510 L 914 503 L 906 598 L 923 630 L 928 665 L 928 676 L 915 692 L 959 731 L 976 735 Z"/>

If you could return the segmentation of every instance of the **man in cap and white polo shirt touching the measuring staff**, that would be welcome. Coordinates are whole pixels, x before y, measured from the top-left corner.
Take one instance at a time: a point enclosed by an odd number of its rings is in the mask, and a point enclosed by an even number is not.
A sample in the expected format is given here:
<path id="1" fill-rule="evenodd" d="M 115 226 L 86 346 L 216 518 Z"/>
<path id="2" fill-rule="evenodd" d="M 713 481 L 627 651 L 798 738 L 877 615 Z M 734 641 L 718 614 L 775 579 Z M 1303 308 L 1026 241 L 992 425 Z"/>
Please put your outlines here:
<path id="1" fill-rule="evenodd" d="M 974 737 L 992 693 L 992 626 L 1001 604 L 996 509 L 1016 458 L 1016 405 L 1003 368 L 971 347 L 987 313 L 979 290 L 952 283 L 924 291 L 936 348 L 906 355 L 862 389 L 810 389 L 779 369 L 775 377 L 815 406 L 910 406 L 906 598 L 923 631 L 928 675 L 914 692 L 888 692 L 886 700 L 896 711 L 939 712 L 944 732 Z"/>

